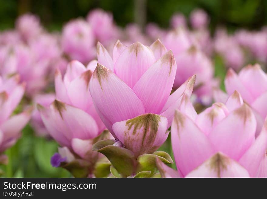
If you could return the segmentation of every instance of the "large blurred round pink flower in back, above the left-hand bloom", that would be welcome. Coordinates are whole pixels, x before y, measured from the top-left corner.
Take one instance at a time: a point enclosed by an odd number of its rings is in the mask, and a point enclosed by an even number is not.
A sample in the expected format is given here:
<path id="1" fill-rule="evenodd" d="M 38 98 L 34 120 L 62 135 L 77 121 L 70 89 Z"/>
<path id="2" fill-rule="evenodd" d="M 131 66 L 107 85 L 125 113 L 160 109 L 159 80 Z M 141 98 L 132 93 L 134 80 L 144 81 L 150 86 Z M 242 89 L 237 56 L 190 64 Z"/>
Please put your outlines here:
<path id="1" fill-rule="evenodd" d="M 63 27 L 62 48 L 71 58 L 87 63 L 95 57 L 95 36 L 83 19 L 75 19 Z"/>

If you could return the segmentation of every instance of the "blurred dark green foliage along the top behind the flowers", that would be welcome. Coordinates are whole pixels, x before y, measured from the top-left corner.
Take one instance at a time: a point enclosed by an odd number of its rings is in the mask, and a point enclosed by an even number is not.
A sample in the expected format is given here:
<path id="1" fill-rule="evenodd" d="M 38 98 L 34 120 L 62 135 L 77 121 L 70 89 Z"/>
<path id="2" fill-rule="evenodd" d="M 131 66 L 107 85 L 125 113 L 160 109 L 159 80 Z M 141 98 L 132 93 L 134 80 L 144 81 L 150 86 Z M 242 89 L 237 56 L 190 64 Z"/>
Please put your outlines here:
<path id="1" fill-rule="evenodd" d="M 40 16 L 50 30 L 60 29 L 72 18 L 86 17 L 93 8 L 114 15 L 120 26 L 134 22 L 135 0 L 0 0 L 0 29 L 12 28 L 25 12 Z M 211 29 L 217 25 L 231 28 L 260 28 L 267 24 L 267 0 L 147 0 L 147 21 L 168 27 L 175 12 L 189 16 L 194 8 L 203 8 L 211 17 Z"/>

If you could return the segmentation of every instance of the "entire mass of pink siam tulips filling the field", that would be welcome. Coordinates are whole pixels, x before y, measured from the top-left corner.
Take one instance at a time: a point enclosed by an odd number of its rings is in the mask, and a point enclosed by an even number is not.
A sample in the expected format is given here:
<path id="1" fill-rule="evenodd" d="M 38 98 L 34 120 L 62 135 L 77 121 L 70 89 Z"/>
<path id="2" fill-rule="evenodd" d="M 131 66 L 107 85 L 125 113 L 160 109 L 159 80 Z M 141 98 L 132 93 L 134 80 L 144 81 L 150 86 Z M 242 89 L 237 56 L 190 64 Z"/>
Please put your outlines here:
<path id="1" fill-rule="evenodd" d="M 267 177 L 266 28 L 212 37 L 201 9 L 188 22 L 144 33 L 95 9 L 50 33 L 20 16 L 0 33 L 0 164 L 30 121 L 74 177 Z"/>

